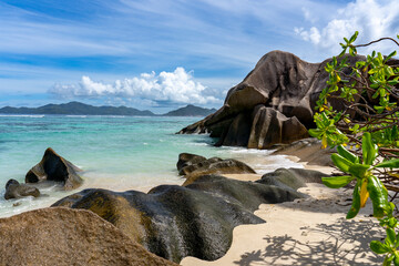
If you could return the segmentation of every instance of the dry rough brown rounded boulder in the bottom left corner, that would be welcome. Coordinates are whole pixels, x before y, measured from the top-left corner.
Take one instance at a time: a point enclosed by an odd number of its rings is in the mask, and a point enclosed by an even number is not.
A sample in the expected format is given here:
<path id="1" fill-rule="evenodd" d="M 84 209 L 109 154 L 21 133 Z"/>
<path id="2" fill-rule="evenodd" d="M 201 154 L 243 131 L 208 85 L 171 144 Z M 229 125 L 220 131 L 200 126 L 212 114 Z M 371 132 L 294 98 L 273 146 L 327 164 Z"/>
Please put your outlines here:
<path id="1" fill-rule="evenodd" d="M 92 212 L 43 208 L 0 219 L 0 265 L 176 265 Z"/>

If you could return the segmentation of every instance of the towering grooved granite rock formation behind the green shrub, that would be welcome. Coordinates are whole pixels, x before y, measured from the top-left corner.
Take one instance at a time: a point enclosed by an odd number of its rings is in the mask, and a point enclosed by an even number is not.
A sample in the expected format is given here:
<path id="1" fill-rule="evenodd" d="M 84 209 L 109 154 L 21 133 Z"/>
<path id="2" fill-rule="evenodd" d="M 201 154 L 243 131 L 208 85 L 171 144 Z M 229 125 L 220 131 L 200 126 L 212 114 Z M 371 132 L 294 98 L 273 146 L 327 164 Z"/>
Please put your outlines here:
<path id="1" fill-rule="evenodd" d="M 365 59 L 349 57 L 348 63 Z M 232 88 L 224 105 L 214 114 L 180 131 L 211 133 L 219 137 L 217 145 L 268 149 L 307 137 L 314 126 L 316 101 L 326 88 L 326 63 L 308 63 L 296 55 L 273 51 L 265 54 L 255 69 Z M 344 70 L 347 74 L 350 69 Z M 330 102 L 336 109 L 342 106 Z"/>

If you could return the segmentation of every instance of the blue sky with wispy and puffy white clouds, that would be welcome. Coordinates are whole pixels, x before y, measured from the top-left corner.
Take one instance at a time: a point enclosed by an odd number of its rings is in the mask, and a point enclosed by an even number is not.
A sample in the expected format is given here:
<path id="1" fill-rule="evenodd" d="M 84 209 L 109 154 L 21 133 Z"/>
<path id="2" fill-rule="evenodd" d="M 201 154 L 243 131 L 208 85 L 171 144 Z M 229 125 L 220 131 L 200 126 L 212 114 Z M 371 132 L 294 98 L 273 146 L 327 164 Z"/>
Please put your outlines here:
<path id="1" fill-rule="evenodd" d="M 396 38 L 399 1 L 1 0 L 0 108 L 219 108 L 265 53 L 320 62 L 355 31 Z"/>

